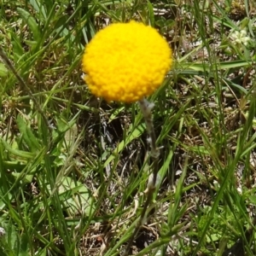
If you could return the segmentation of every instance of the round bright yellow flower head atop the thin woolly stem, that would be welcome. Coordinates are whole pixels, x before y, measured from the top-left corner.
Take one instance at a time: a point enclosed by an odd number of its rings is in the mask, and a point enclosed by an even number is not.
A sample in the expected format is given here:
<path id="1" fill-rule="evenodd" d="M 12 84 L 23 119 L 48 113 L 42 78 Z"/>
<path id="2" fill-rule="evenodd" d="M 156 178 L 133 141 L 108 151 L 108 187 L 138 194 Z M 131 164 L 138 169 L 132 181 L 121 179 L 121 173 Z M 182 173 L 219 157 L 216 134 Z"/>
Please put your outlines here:
<path id="1" fill-rule="evenodd" d="M 132 20 L 96 33 L 82 62 L 94 95 L 108 102 L 136 102 L 163 82 L 172 66 L 172 49 L 153 27 Z"/>

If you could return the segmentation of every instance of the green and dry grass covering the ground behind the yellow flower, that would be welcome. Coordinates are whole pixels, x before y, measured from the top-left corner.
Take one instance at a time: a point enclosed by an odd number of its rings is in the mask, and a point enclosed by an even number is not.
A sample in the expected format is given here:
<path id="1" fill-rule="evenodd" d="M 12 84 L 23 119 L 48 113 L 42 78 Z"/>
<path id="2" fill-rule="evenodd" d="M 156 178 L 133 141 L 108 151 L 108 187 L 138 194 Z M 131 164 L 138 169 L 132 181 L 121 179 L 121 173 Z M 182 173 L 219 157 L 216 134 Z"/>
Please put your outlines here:
<path id="1" fill-rule="evenodd" d="M 108 21 L 131 19 L 155 26 L 175 63 L 149 97 L 161 184 L 130 254 L 256 254 L 256 10 L 219 2 L 0 3 L 15 67 L 0 57 L 1 255 L 113 256 L 130 241 L 151 170 L 143 116 L 91 96 L 80 61 Z"/>

